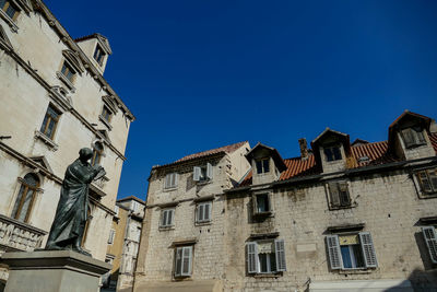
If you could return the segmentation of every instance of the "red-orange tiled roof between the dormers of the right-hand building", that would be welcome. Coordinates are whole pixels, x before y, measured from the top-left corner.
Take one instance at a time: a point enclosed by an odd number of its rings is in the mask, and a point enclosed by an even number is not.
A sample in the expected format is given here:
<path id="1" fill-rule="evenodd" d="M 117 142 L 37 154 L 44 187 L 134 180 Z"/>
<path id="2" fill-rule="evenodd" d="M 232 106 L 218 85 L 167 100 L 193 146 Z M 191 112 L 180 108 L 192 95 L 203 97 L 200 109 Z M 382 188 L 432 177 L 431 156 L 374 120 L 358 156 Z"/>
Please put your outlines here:
<path id="1" fill-rule="evenodd" d="M 434 150 L 437 153 L 437 133 L 429 135 Z M 353 163 L 349 168 L 357 168 L 366 165 L 378 165 L 398 161 L 387 152 L 388 142 L 374 142 L 351 147 Z M 368 160 L 359 160 L 367 156 Z M 310 154 L 307 160 L 300 157 L 284 160 L 287 170 L 281 174 L 280 180 L 287 180 L 293 177 L 315 175 L 321 173 L 321 168 L 316 164 L 315 155 Z M 252 184 L 252 172 L 239 184 L 239 187 Z"/>

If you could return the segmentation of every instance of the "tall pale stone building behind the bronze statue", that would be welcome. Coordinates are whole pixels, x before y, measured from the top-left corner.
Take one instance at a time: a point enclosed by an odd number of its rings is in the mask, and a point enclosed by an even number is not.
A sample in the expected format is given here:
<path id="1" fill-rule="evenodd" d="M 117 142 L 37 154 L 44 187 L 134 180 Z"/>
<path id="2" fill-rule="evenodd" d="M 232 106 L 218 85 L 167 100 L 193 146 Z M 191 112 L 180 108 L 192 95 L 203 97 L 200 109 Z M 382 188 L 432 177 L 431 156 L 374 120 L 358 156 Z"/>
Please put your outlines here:
<path id="1" fill-rule="evenodd" d="M 110 54 L 99 34 L 74 40 L 39 0 L 0 1 L 1 252 L 45 245 L 66 168 L 88 147 L 107 174 L 91 185 L 84 248 L 105 259 L 134 120 L 103 77 Z"/>

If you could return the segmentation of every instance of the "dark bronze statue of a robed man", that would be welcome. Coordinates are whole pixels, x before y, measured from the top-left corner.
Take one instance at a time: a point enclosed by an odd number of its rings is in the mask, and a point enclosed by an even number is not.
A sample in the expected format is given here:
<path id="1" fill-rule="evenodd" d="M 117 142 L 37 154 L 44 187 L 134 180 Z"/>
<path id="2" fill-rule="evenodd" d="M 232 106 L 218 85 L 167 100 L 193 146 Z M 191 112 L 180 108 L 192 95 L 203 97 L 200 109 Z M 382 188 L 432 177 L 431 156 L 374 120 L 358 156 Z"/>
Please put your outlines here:
<path id="1" fill-rule="evenodd" d="M 72 249 L 91 256 L 81 247 L 87 220 L 88 187 L 93 179 L 105 175 L 105 170 L 101 165 L 92 166 L 88 163 L 93 157 L 90 148 L 81 149 L 79 155 L 67 167 L 46 249 Z"/>

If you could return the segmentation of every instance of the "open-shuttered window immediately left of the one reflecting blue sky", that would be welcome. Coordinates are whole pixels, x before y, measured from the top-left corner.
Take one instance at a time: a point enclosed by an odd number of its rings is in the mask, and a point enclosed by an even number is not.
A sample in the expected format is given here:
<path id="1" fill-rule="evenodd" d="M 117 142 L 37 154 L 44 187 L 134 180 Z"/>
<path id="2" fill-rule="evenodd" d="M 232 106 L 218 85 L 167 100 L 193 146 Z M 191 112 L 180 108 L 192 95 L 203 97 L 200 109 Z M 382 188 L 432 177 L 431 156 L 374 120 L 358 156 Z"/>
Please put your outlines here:
<path id="1" fill-rule="evenodd" d="M 246 261 L 248 273 L 286 271 L 284 240 L 247 243 Z"/>

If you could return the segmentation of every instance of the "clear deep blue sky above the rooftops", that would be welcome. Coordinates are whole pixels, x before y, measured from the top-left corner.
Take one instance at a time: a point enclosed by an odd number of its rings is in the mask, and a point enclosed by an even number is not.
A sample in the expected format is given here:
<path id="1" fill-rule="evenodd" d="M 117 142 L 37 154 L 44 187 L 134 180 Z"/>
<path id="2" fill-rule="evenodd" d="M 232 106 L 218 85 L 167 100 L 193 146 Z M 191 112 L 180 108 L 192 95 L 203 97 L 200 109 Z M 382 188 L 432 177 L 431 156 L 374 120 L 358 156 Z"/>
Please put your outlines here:
<path id="1" fill-rule="evenodd" d="M 326 127 L 387 139 L 437 117 L 437 1 L 47 0 L 73 37 L 102 33 L 106 79 L 137 116 L 119 198 L 152 165 L 248 140 L 299 154 Z"/>

